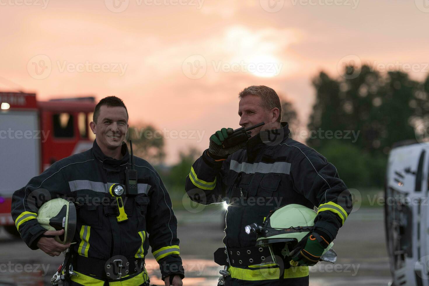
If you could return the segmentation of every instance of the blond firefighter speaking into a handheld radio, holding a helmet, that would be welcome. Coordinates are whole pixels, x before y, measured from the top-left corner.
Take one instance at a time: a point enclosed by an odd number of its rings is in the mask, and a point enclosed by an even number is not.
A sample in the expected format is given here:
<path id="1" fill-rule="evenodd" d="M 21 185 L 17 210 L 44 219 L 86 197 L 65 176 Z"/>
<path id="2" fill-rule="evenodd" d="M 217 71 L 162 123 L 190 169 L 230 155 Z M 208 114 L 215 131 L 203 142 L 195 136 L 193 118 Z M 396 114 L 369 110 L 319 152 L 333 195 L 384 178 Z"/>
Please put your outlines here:
<path id="1" fill-rule="evenodd" d="M 308 286 L 308 266 L 336 259 L 350 192 L 326 158 L 289 138 L 272 88 L 247 87 L 239 98 L 242 128 L 213 134 L 186 178 L 193 201 L 228 204 L 218 285 Z"/>

